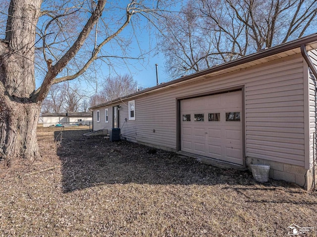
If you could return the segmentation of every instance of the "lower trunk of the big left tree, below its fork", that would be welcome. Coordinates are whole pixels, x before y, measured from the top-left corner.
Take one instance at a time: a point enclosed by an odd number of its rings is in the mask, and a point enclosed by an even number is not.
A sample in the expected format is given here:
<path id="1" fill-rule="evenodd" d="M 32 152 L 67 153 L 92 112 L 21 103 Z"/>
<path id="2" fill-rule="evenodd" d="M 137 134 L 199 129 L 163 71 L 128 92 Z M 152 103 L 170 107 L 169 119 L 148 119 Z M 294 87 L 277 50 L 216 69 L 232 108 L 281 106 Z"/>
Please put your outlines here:
<path id="1" fill-rule="evenodd" d="M 38 156 L 36 127 L 41 105 L 10 99 L 0 106 L 0 159 L 5 166 L 23 158 L 33 161 Z"/>

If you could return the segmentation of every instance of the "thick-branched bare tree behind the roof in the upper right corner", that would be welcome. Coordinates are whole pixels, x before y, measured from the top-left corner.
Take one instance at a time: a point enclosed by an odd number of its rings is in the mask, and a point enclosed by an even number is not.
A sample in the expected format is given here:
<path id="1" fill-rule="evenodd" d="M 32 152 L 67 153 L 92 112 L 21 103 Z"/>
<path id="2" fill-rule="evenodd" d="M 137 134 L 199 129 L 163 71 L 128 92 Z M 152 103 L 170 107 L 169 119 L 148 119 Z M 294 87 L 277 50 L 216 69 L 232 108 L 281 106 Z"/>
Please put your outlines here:
<path id="1" fill-rule="evenodd" d="M 223 3 L 235 16 L 234 20 L 245 26 L 248 41 L 256 50 L 302 37 L 317 14 L 315 0 L 225 0 Z"/>

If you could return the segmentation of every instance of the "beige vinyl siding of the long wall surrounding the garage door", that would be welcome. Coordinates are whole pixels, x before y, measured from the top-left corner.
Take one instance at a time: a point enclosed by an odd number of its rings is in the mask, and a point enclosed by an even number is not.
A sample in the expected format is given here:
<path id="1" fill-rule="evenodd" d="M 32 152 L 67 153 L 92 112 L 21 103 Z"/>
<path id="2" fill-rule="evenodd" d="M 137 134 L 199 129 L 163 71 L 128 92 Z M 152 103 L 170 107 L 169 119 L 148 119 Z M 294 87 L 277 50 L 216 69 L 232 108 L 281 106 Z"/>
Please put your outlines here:
<path id="1" fill-rule="evenodd" d="M 177 98 L 211 94 L 242 85 L 245 86 L 246 156 L 304 166 L 301 55 L 221 76 L 204 77 L 195 82 L 187 81 L 173 85 L 173 88 L 135 97 L 136 119 L 124 123 L 122 135 L 138 142 L 176 150 Z M 126 113 L 128 118 L 127 108 L 126 111 L 121 110 L 120 115 L 121 112 Z M 94 129 L 97 126 L 94 125 Z"/>

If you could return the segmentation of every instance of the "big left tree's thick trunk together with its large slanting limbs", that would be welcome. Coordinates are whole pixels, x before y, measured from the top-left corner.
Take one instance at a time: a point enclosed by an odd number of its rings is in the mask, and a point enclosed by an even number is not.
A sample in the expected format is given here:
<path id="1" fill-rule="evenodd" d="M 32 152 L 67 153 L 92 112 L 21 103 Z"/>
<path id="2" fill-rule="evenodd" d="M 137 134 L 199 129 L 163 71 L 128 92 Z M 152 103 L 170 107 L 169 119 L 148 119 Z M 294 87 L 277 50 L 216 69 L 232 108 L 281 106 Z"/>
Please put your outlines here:
<path id="1" fill-rule="evenodd" d="M 98 1 L 85 27 L 67 52 L 54 65 L 52 59 L 47 59 L 47 75 L 40 88 L 35 90 L 35 36 L 41 4 L 42 0 L 11 0 L 5 39 L 0 40 L 0 160 L 4 159 L 6 164 L 18 158 L 32 161 L 38 156 L 36 128 L 41 104 L 53 83 L 75 78 L 55 79 L 89 37 L 102 15 L 106 0 Z M 122 31 L 131 14 L 127 13 L 126 23 L 107 37 L 101 46 Z M 93 54 L 85 67 L 75 74 L 76 77 L 96 57 L 97 54 Z"/>

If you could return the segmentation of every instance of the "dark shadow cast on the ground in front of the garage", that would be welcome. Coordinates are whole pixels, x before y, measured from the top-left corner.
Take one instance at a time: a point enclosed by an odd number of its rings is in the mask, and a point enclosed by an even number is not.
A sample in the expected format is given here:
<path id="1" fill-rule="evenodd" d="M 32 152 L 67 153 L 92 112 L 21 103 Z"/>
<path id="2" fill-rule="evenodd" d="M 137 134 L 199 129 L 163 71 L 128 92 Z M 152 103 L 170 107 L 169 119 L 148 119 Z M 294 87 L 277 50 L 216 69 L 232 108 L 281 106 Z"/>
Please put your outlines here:
<path id="1" fill-rule="evenodd" d="M 105 184 L 254 185 L 248 171 L 222 169 L 193 158 L 127 141 L 110 142 L 103 136 L 85 137 L 87 130 L 54 132 L 60 141 L 63 192 Z M 264 189 L 274 189 L 270 183 Z M 283 185 L 288 185 L 283 183 Z"/>

